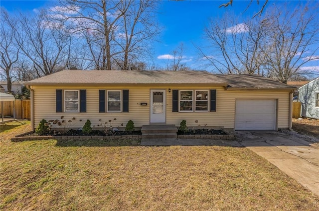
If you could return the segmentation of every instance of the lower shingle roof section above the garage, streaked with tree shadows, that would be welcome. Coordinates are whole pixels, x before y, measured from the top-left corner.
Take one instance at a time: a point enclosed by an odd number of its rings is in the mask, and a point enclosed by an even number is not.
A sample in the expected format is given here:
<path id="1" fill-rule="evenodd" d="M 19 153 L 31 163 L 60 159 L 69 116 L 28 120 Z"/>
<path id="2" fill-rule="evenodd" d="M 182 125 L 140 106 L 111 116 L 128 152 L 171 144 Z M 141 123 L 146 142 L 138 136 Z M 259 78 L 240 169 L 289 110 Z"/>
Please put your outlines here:
<path id="1" fill-rule="evenodd" d="M 278 82 L 276 80 L 266 78 L 260 75 L 248 75 L 248 74 L 218 74 L 219 78 L 227 81 L 229 88 L 292 88 L 294 86 L 287 85 L 285 83 Z"/>

